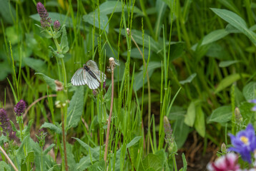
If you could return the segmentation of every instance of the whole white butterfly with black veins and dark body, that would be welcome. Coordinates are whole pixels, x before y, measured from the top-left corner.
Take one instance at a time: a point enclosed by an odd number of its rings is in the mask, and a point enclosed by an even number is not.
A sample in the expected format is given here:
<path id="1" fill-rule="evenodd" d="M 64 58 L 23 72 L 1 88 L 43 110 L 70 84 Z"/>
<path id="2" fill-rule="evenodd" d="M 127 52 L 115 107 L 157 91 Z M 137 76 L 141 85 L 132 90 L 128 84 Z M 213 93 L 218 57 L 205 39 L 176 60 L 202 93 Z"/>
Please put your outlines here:
<path id="1" fill-rule="evenodd" d="M 87 85 L 90 89 L 95 90 L 99 87 L 100 83 L 106 81 L 106 74 L 99 71 L 97 63 L 89 60 L 82 68 L 79 68 L 74 76 L 71 78 L 71 83 L 74 86 Z"/>

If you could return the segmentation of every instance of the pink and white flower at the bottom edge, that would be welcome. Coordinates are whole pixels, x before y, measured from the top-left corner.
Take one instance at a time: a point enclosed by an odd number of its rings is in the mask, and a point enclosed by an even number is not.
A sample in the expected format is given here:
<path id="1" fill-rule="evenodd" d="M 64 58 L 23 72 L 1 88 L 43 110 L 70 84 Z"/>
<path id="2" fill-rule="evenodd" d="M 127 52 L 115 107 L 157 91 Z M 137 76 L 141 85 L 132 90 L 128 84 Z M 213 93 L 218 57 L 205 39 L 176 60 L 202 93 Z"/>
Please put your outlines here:
<path id="1" fill-rule="evenodd" d="M 215 162 L 207 165 L 210 171 L 240 171 L 240 165 L 237 164 L 238 156 L 230 152 L 227 155 L 219 157 Z"/>

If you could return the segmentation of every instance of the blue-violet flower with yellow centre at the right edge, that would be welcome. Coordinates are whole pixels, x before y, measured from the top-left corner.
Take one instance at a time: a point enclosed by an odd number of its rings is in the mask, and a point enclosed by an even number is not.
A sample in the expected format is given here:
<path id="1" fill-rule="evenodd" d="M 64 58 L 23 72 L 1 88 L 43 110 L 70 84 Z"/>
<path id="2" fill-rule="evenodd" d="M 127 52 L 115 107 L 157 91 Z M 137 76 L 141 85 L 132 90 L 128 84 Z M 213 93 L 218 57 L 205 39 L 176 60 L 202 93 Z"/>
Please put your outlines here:
<path id="1" fill-rule="evenodd" d="M 251 152 L 256 149 L 256 136 L 252 124 L 247 125 L 247 128 L 241 130 L 236 136 L 229 135 L 234 147 L 230 147 L 228 150 L 240 153 L 242 160 L 251 163 Z"/>

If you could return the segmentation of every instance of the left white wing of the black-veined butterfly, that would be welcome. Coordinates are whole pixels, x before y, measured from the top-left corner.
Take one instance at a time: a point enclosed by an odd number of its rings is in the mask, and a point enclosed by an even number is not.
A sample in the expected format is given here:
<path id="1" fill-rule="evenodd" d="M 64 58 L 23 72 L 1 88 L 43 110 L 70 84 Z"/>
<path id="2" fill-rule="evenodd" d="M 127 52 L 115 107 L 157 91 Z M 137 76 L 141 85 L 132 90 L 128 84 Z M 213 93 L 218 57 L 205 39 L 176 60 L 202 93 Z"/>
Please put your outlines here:
<path id="1" fill-rule="evenodd" d="M 87 71 L 84 68 L 79 68 L 71 78 L 71 83 L 74 86 L 82 86 L 87 84 Z"/>

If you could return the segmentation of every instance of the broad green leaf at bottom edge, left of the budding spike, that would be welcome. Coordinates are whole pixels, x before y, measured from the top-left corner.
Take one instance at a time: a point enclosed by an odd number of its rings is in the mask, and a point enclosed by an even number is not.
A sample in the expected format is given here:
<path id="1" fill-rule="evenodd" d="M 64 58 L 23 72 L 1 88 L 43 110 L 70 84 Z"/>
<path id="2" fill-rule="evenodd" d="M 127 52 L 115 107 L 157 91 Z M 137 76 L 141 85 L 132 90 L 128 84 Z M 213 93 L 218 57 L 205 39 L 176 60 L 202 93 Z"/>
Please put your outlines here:
<path id="1" fill-rule="evenodd" d="M 162 171 L 164 168 L 164 162 L 166 160 L 164 150 L 159 150 L 155 154 L 149 154 L 142 160 L 139 165 L 139 170 L 155 170 Z"/>

